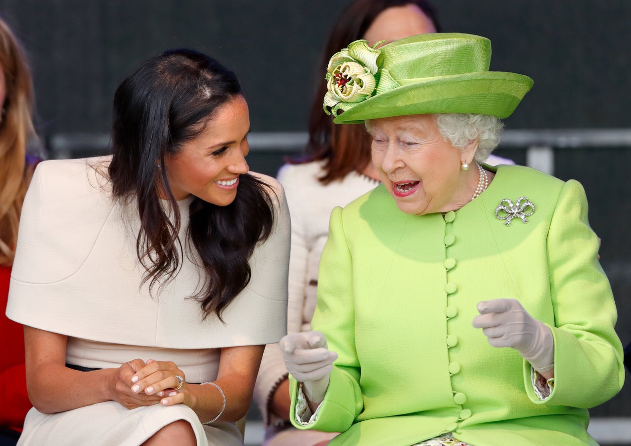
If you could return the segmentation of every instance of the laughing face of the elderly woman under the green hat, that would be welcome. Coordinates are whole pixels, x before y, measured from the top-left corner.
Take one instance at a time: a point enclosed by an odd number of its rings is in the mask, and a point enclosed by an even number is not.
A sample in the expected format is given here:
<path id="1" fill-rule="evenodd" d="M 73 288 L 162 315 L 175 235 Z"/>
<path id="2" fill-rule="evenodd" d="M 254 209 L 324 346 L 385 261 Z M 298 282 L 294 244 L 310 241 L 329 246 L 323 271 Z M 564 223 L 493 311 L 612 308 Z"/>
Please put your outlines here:
<path id="1" fill-rule="evenodd" d="M 455 148 L 443 139 L 432 115 L 372 119 L 367 129 L 373 138 L 372 162 L 401 211 L 453 211 L 471 199 L 478 172 L 461 170 L 461 164 L 473 160 L 475 142 L 464 150 Z"/>

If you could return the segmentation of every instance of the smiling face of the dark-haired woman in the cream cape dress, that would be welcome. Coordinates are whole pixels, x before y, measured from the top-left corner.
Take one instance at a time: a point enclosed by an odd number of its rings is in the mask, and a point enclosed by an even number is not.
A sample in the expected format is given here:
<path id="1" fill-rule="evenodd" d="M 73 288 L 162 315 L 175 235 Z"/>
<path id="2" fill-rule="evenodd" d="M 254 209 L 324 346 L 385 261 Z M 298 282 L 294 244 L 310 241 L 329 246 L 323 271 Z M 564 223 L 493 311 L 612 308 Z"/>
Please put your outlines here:
<path id="1" fill-rule="evenodd" d="M 249 170 L 249 130 L 247 103 L 239 95 L 216 111 L 199 136 L 167 155 L 164 168 L 175 199 L 192 194 L 217 206 L 232 203 L 239 175 Z"/>

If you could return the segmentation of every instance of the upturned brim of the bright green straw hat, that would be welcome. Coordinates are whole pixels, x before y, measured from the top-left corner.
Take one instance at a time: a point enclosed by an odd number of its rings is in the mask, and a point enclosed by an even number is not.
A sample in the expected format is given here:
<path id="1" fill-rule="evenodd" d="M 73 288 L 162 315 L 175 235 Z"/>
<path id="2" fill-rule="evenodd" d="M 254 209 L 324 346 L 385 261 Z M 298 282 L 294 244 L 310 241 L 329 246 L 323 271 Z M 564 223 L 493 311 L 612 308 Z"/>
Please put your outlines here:
<path id="1" fill-rule="evenodd" d="M 533 79 L 516 73 L 480 71 L 409 79 L 406 83 L 356 103 L 333 122 L 358 124 L 367 119 L 428 113 L 472 113 L 503 119 L 516 109 L 533 86 Z"/>

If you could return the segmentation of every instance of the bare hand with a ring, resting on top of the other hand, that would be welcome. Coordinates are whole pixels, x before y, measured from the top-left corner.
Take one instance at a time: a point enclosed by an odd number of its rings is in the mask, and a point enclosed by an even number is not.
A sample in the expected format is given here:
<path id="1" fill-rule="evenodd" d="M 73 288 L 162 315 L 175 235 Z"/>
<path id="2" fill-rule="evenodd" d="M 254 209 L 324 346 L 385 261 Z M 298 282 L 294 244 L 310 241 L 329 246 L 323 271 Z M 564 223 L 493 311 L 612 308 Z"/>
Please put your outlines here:
<path id="1" fill-rule="evenodd" d="M 163 406 L 178 403 L 191 406 L 191 394 L 187 389 L 184 372 L 172 361 L 147 360 L 146 365 L 131 378 L 131 382 L 131 389 L 135 393 L 144 392 L 147 395 L 163 397 L 160 400 Z"/>

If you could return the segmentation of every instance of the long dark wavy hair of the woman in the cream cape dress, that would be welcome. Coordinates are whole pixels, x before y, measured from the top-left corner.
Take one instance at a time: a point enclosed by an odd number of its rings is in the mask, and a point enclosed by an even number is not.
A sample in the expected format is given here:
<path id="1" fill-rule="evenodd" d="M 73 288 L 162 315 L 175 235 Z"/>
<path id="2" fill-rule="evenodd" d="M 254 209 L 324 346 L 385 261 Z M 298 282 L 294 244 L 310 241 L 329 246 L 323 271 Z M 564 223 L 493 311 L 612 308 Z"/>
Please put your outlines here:
<path id="1" fill-rule="evenodd" d="M 177 203 L 160 165 L 198 137 L 216 110 L 241 94 L 232 71 L 188 49 L 149 59 L 116 90 L 109 177 L 114 197 L 138 203 L 136 253 L 150 290 L 177 275 L 183 254 Z M 161 204 L 161 193 L 169 209 Z M 198 197 L 191 202 L 186 246 L 196 249 L 206 272 L 206 283 L 195 296 L 204 319 L 213 312 L 221 319 L 221 312 L 249 282 L 248 259 L 273 226 L 271 193 L 267 184 L 245 174 L 228 206 Z"/>

